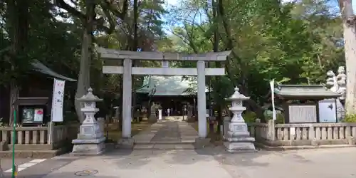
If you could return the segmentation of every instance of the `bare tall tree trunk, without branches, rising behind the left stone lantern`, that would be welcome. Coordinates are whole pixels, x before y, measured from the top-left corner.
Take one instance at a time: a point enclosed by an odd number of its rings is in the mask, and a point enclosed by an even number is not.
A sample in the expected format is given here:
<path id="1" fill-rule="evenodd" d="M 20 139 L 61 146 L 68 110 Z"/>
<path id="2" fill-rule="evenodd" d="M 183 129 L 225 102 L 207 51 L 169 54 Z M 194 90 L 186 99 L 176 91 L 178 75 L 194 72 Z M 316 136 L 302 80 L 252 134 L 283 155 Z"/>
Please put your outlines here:
<path id="1" fill-rule="evenodd" d="M 95 21 L 95 2 L 87 1 L 86 3 L 86 21 L 83 24 L 83 40 L 80 55 L 80 69 L 78 75 L 77 91 L 75 98 L 80 98 L 86 94 L 86 90 L 90 87 L 90 57 L 92 46 L 92 33 Z M 83 122 L 85 119 L 83 112 L 80 111 L 82 104 L 75 100 L 75 111 L 78 115 L 78 120 Z"/>

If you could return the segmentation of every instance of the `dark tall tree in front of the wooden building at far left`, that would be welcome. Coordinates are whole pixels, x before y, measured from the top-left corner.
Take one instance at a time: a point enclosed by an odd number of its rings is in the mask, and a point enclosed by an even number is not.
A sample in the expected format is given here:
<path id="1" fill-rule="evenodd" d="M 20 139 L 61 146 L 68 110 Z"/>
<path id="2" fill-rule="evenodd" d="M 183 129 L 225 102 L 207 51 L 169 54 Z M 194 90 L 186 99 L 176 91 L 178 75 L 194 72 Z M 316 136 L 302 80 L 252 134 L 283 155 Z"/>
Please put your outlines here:
<path id="1" fill-rule="evenodd" d="M 29 28 L 29 6 L 33 1 L 9 0 L 6 1 L 6 27 L 9 29 L 11 47 L 9 56 L 5 58 L 1 73 L 6 74 L 3 82 L 9 82 L 10 85 L 10 118 L 14 121 L 14 102 L 19 97 L 19 88 L 21 87 L 21 78 L 24 77 L 27 70 L 31 67 L 26 53 L 28 48 L 28 28 Z"/>

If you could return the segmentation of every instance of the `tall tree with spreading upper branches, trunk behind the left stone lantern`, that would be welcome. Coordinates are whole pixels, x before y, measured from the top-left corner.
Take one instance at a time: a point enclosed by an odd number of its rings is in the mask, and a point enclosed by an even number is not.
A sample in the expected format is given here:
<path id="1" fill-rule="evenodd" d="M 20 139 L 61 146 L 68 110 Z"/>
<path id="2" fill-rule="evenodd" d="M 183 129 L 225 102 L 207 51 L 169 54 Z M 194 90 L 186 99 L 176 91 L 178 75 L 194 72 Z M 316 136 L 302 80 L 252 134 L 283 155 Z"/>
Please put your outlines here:
<path id="1" fill-rule="evenodd" d="M 72 1 L 73 2 L 73 1 Z M 113 1 L 95 1 L 87 0 L 84 2 L 84 6 L 80 6 L 80 1 L 75 3 L 77 9 L 73 6 L 67 4 L 64 0 L 56 0 L 56 5 L 62 9 L 68 11 L 73 17 L 78 18 L 83 26 L 83 39 L 80 53 L 80 70 L 78 75 L 78 85 L 75 93 L 75 98 L 80 98 L 85 95 L 86 90 L 90 85 L 90 58 L 93 55 L 93 32 L 95 30 L 105 31 L 106 33 L 112 33 L 115 26 L 117 26 L 116 21 L 112 20 L 112 14 L 114 14 L 117 19 L 123 20 L 126 16 L 128 9 L 128 1 L 125 0 L 122 4 L 122 9 L 118 10 L 119 6 L 114 4 Z M 83 3 L 82 3 L 83 4 Z M 107 22 L 110 24 L 110 27 L 104 25 L 103 16 L 99 19 L 96 19 L 98 15 L 95 13 L 95 8 L 100 5 L 100 8 L 103 9 L 104 15 L 107 19 Z M 85 9 L 85 11 L 79 11 L 78 9 Z M 83 122 L 83 112 L 80 111 L 81 105 L 75 100 L 75 110 L 78 115 L 80 122 Z"/>

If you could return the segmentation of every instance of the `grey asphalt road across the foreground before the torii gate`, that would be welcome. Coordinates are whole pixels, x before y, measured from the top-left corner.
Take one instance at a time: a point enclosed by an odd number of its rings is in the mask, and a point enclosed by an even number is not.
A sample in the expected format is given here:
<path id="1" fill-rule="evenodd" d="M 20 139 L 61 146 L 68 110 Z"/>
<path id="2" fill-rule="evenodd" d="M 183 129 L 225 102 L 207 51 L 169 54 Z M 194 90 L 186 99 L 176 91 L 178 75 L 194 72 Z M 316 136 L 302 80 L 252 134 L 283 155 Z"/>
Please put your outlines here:
<path id="1" fill-rule="evenodd" d="M 1 164 L 6 171 L 11 168 L 11 159 L 3 159 Z M 118 175 L 126 178 L 196 175 L 205 178 L 356 178 L 356 147 L 239 154 L 229 154 L 222 149 L 115 150 L 97 157 L 62 155 L 46 160 L 16 159 L 16 164 L 19 167 L 31 165 L 19 172 L 21 178 L 70 178 L 77 177 L 75 172 L 86 169 L 98 170 L 94 177 L 103 178 L 117 178 Z M 6 172 L 5 176 L 11 177 L 11 173 Z"/>

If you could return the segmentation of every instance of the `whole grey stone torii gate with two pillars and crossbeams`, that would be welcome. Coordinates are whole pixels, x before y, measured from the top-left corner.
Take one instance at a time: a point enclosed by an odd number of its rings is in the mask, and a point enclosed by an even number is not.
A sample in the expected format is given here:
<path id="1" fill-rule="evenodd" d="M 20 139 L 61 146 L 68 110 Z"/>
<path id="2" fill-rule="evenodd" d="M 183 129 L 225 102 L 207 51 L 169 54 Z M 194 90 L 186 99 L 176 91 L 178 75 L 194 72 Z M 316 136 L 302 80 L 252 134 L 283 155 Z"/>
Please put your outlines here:
<path id="1" fill-rule="evenodd" d="M 141 51 L 118 51 L 98 48 L 105 59 L 103 73 L 122 74 L 122 138 L 131 137 L 132 75 L 196 75 L 198 80 L 198 125 L 199 137 L 205 138 L 206 131 L 206 75 L 225 75 L 224 68 L 205 68 L 206 61 L 225 61 L 231 51 L 186 55 L 182 53 L 161 53 Z M 162 61 L 161 68 L 132 67 L 132 60 Z M 118 61 L 123 61 L 120 66 Z M 197 68 L 169 68 L 169 61 L 197 61 Z"/>

